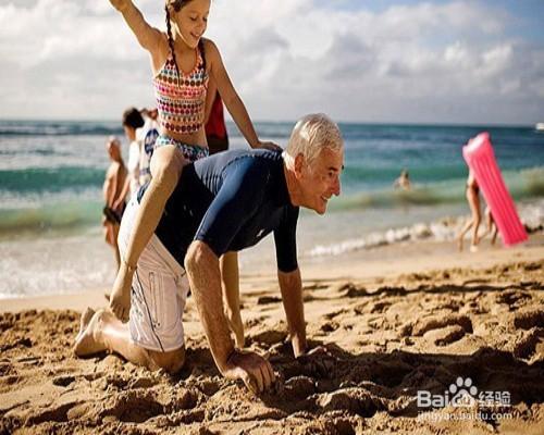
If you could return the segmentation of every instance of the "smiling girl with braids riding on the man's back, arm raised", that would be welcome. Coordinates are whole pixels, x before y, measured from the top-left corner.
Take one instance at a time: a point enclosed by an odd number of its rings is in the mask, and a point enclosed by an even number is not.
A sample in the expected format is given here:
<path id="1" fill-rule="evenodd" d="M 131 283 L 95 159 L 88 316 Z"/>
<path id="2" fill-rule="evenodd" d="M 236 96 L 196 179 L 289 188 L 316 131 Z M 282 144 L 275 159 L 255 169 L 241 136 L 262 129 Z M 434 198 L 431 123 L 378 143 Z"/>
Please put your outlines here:
<path id="1" fill-rule="evenodd" d="M 138 258 L 157 228 L 182 167 L 187 162 L 208 156 L 203 129 L 208 80 L 213 79 L 226 109 L 252 148 L 279 147 L 259 140 L 223 66 L 218 48 L 211 40 L 202 38 L 211 0 L 166 0 L 165 34 L 151 27 L 132 0 L 110 2 L 121 12 L 140 46 L 151 57 L 161 126 L 151 160 L 152 179 L 141 199 L 111 295 L 112 311 L 126 322 L 131 307 L 131 284 Z M 230 308 L 239 311 L 236 307 Z M 239 341 L 239 333 L 235 334 Z"/>

